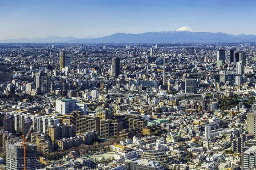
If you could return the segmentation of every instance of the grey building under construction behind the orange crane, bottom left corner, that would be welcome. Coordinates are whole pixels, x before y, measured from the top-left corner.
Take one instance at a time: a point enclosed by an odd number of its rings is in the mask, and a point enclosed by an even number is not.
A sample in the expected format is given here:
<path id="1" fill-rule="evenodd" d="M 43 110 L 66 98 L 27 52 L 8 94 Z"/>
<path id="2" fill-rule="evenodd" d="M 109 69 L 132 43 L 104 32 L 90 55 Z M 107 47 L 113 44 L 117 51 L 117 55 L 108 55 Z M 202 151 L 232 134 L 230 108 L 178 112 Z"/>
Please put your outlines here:
<path id="1" fill-rule="evenodd" d="M 24 147 L 22 141 L 6 142 L 6 170 L 24 170 Z M 36 170 L 37 147 L 27 144 L 27 170 Z"/>

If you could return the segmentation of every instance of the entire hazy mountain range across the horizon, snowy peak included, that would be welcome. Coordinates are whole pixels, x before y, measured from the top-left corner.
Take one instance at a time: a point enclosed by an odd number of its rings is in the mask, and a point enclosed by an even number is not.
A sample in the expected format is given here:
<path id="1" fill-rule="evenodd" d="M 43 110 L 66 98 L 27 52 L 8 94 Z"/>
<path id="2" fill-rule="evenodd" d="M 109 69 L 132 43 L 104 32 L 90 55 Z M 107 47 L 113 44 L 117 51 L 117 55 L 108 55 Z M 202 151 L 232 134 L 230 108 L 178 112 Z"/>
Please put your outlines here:
<path id="1" fill-rule="evenodd" d="M 256 35 L 234 35 L 222 32 L 196 32 L 183 26 L 174 31 L 146 32 L 141 34 L 116 33 L 101 38 L 76 38 L 48 36 L 33 39 L 0 40 L 1 43 L 40 43 L 40 42 L 69 42 L 69 43 L 111 43 L 111 42 L 256 42 Z"/>

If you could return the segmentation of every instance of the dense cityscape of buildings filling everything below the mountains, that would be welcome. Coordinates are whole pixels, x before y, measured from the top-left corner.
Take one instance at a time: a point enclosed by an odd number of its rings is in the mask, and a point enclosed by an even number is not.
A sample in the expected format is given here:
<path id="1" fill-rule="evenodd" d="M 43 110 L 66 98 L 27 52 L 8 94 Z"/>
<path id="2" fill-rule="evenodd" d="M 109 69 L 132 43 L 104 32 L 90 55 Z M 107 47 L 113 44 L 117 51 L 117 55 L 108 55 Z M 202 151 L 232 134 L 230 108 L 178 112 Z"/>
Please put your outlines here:
<path id="1" fill-rule="evenodd" d="M 254 169 L 255 51 L 2 43 L 0 169 Z"/>

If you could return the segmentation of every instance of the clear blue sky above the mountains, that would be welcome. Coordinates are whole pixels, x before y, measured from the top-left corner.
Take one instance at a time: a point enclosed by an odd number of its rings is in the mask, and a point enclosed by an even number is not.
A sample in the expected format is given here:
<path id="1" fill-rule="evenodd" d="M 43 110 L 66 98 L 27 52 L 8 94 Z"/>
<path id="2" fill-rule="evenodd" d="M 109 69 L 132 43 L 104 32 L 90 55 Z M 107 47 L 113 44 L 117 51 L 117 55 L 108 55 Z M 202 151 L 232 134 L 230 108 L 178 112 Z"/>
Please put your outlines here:
<path id="1" fill-rule="evenodd" d="M 255 0 L 0 0 L 0 40 L 175 30 L 256 34 Z"/>

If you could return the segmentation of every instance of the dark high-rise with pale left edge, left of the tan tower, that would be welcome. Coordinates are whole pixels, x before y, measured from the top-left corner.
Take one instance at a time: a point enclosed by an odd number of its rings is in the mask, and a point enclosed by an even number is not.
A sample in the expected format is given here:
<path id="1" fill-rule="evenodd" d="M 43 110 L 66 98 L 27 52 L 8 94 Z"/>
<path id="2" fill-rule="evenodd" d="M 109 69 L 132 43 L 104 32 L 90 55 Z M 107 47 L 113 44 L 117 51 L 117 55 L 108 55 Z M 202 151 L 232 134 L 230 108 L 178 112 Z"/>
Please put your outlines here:
<path id="1" fill-rule="evenodd" d="M 47 73 L 36 73 L 36 90 L 38 94 L 48 93 L 50 84 Z"/>

